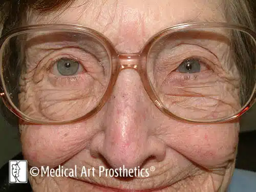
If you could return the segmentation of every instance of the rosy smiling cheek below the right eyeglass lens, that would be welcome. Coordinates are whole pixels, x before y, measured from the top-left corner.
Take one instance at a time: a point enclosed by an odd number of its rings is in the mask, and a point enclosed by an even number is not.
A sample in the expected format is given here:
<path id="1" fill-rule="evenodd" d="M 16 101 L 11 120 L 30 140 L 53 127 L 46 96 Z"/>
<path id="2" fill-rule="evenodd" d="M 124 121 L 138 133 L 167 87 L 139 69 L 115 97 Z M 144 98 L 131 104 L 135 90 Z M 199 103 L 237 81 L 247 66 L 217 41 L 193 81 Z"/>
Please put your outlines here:
<path id="1" fill-rule="evenodd" d="M 162 139 L 190 161 L 203 167 L 223 167 L 236 158 L 239 123 L 195 125 L 177 123 Z"/>

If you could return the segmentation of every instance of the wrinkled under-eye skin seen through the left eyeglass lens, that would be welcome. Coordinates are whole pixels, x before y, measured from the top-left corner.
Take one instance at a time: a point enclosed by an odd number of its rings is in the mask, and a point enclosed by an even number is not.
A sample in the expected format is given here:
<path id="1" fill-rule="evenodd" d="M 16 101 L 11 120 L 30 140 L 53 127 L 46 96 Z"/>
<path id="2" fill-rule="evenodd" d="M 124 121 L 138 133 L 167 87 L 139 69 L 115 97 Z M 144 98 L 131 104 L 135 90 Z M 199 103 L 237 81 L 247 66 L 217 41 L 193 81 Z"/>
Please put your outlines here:
<path id="1" fill-rule="evenodd" d="M 38 120 L 62 121 L 81 117 L 95 108 L 106 87 L 105 81 L 94 80 L 88 74 L 56 78 L 44 73 L 44 78 L 36 83 L 36 75 L 31 73 L 25 74 L 20 81 L 18 108 Z"/>

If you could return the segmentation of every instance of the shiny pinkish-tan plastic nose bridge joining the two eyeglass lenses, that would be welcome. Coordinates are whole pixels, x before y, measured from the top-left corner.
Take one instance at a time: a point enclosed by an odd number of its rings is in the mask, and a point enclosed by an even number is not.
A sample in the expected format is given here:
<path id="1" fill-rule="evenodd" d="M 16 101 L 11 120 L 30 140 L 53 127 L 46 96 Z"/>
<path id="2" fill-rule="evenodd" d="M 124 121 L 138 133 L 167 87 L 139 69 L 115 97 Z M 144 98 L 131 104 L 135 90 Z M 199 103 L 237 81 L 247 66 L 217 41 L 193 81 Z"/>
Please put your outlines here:
<path id="1" fill-rule="evenodd" d="M 139 53 L 118 54 L 119 72 L 124 69 L 134 69 L 138 71 L 140 58 Z"/>

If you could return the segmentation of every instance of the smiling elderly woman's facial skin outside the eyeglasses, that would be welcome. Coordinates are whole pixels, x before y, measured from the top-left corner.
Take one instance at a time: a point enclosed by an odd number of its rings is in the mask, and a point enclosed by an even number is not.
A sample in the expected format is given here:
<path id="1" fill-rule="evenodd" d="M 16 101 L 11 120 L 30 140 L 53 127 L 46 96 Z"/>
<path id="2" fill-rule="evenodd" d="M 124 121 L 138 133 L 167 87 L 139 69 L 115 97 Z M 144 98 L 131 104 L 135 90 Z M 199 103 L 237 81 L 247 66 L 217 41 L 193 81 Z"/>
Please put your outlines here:
<path id="1" fill-rule="evenodd" d="M 77 1 L 28 24 L 79 24 L 95 29 L 122 53 L 138 52 L 158 31 L 188 21 L 225 22 L 221 2 L 206 0 Z M 28 79 L 29 80 L 29 79 Z M 29 89 L 27 92 L 29 93 Z M 31 177 L 35 191 L 224 191 L 236 157 L 239 124 L 193 124 L 164 115 L 137 71 L 120 72 L 113 92 L 92 118 L 66 125 L 20 126 L 32 166 L 95 167 L 88 177 Z M 99 177 L 98 168 L 150 168 L 148 177 Z M 48 188 L 48 189 L 46 189 Z"/>

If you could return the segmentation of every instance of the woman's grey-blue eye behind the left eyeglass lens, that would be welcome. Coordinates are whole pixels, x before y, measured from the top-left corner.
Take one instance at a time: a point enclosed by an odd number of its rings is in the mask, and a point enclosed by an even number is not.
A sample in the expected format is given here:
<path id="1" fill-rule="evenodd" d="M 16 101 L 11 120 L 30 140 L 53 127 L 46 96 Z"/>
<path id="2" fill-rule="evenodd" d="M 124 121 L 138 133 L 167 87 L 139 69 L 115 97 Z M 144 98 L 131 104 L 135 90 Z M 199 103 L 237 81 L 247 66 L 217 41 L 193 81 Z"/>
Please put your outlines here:
<path id="1" fill-rule="evenodd" d="M 78 61 L 71 58 L 60 58 L 55 61 L 55 65 L 58 73 L 63 76 L 75 75 L 82 68 Z"/>

